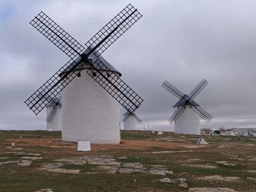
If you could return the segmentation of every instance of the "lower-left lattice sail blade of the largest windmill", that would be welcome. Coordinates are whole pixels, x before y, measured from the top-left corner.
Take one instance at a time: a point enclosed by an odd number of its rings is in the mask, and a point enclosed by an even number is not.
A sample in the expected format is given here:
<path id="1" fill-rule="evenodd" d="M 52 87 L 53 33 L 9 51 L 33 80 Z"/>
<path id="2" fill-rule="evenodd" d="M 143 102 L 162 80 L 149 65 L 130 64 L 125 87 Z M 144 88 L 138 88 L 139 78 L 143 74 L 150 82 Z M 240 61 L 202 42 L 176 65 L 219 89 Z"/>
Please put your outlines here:
<path id="1" fill-rule="evenodd" d="M 65 88 L 69 82 L 71 82 L 81 71 L 72 70 L 72 72 L 64 73 L 65 69 L 69 69 L 71 64 L 78 64 L 77 61 L 70 59 L 67 64 L 61 67 L 58 72 L 53 74 L 49 80 L 47 80 L 37 91 L 35 91 L 28 99 L 26 99 L 25 104 L 32 110 L 36 115 L 41 112 L 46 105 L 49 103 L 45 96 L 50 96 L 50 98 L 55 98 L 59 95 L 61 90 Z M 39 97 L 40 96 L 40 97 Z"/>

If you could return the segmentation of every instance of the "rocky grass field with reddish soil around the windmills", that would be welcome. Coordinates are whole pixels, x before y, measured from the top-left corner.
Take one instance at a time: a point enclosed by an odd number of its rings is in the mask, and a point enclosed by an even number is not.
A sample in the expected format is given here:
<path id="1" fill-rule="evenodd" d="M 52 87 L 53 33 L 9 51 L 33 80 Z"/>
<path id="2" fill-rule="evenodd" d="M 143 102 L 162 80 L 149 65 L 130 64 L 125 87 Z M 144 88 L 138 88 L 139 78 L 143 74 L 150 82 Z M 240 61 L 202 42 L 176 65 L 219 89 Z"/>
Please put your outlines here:
<path id="1" fill-rule="evenodd" d="M 59 131 L 0 131 L 0 191 L 256 191 L 256 139 L 203 138 L 208 145 L 196 145 L 198 136 L 122 131 L 121 145 L 78 152 Z"/>

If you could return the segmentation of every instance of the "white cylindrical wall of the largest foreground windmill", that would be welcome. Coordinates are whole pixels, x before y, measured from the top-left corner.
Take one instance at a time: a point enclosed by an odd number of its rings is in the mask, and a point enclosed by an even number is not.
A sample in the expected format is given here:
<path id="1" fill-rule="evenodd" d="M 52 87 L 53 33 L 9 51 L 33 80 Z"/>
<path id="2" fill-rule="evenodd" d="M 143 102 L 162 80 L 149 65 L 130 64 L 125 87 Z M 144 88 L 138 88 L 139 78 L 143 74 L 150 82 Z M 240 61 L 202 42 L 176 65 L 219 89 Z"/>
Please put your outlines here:
<path id="1" fill-rule="evenodd" d="M 120 106 L 86 69 L 61 93 L 62 140 L 120 143 Z"/>

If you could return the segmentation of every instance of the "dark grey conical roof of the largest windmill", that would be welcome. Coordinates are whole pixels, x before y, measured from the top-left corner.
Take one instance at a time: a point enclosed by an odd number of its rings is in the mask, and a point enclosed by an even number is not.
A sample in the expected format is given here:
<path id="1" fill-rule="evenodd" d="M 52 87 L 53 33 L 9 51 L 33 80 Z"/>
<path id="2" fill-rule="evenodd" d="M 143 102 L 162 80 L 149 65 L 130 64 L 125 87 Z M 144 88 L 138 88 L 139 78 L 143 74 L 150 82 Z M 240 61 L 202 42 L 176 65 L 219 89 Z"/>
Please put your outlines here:
<path id="1" fill-rule="evenodd" d="M 88 47 L 85 51 L 83 51 L 83 53 L 88 53 L 89 50 L 91 50 L 91 47 Z M 97 59 L 99 59 L 99 61 L 101 62 L 97 62 Z M 75 59 L 75 61 L 79 61 L 80 60 L 80 56 L 78 58 Z M 102 57 L 102 55 L 99 55 L 99 53 L 97 53 L 97 51 L 94 51 L 93 53 L 91 53 L 88 57 L 88 60 L 90 61 L 91 64 L 94 65 L 94 67 L 96 69 L 101 69 L 101 70 L 104 70 L 104 71 L 109 71 L 109 72 L 117 72 L 119 74 L 119 76 L 121 77 L 121 73 L 118 72 L 118 70 L 116 70 L 115 67 L 113 67 L 112 65 L 110 65 L 110 63 L 108 63 L 108 61 L 105 60 L 105 58 Z M 103 66 L 102 64 L 105 64 L 105 66 Z M 66 69 L 64 69 L 63 72 L 69 72 L 70 69 L 72 69 L 72 66 L 75 65 L 75 62 L 73 62 L 72 64 L 70 64 Z M 83 66 L 80 65 L 76 68 L 77 69 L 83 69 Z M 63 73 L 62 72 L 62 73 Z"/>

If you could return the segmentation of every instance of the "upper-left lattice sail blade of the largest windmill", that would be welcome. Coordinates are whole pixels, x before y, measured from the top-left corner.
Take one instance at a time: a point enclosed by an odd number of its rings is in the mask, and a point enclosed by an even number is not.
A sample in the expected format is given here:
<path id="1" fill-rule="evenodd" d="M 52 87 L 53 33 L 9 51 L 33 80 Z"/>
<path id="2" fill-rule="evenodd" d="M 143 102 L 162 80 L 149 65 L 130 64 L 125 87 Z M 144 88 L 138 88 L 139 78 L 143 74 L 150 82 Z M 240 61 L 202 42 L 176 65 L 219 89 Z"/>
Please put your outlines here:
<path id="1" fill-rule="evenodd" d="M 31 26 L 37 29 L 54 45 L 59 47 L 70 58 L 75 58 L 85 49 L 73 37 L 71 37 L 63 28 L 50 19 L 44 12 L 39 14 L 30 22 Z"/>

